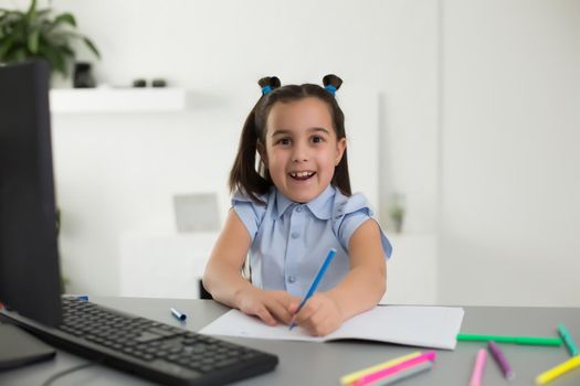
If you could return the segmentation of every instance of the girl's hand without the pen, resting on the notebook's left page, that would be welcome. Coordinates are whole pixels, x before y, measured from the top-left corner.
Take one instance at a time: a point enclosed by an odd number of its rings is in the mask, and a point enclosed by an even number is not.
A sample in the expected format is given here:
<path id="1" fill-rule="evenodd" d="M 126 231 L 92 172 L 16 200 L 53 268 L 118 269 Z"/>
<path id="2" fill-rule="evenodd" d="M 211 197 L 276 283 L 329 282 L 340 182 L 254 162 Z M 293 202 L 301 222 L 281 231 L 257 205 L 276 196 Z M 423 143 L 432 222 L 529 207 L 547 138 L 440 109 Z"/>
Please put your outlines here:
<path id="1" fill-rule="evenodd" d="M 251 287 L 238 293 L 236 302 L 243 313 L 255 315 L 267 325 L 276 325 L 276 321 L 289 324 L 293 317 L 291 304 L 299 302 L 299 299 L 285 291 L 265 291 Z"/>

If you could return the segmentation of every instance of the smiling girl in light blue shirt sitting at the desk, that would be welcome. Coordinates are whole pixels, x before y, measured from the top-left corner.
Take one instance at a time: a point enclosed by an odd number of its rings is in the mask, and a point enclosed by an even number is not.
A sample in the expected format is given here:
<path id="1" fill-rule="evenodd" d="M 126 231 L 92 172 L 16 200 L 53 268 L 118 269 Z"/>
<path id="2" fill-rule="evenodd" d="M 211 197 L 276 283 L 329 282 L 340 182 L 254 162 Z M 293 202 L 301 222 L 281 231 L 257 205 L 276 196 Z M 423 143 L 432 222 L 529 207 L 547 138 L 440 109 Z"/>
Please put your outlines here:
<path id="1" fill-rule="evenodd" d="M 367 200 L 350 192 L 345 117 L 334 96 L 342 81 L 323 82 L 260 79 L 262 97 L 230 173 L 232 210 L 203 275 L 217 301 L 313 335 L 379 302 L 391 254 Z M 318 291 L 298 311 L 330 248 L 337 254 Z M 249 253 L 251 282 L 242 276 Z"/>

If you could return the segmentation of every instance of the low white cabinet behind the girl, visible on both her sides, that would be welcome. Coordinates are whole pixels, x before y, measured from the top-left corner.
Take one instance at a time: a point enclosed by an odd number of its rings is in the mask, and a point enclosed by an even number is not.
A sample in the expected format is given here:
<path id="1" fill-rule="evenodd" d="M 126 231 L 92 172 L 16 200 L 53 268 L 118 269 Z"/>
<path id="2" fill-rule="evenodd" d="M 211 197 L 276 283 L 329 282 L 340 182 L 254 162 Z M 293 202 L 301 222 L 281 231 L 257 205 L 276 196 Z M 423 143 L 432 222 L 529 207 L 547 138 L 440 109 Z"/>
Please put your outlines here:
<path id="1" fill-rule="evenodd" d="M 199 298 L 199 279 L 219 233 L 125 234 L 120 237 L 120 296 Z M 435 304 L 435 235 L 390 235 L 387 294 L 381 303 Z"/>

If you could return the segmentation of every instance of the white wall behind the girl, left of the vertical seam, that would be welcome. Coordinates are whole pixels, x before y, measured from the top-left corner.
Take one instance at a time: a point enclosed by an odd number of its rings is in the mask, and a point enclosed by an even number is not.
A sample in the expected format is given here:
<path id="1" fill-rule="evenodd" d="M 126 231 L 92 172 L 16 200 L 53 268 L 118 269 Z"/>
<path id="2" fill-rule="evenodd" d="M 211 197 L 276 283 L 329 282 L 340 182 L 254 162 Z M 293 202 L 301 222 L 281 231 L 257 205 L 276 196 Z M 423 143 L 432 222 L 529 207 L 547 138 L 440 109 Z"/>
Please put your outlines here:
<path id="1" fill-rule="evenodd" d="M 392 190 L 408 190 L 410 204 L 418 203 L 408 228 L 433 230 L 433 163 L 412 159 L 435 149 L 423 135 L 436 128 L 434 3 L 55 0 L 53 7 L 72 11 L 97 43 L 101 83 L 166 77 L 189 90 L 182 114 L 53 117 L 70 291 L 119 293 L 123 240 L 172 234 L 176 193 L 218 192 L 224 217 L 238 136 L 264 75 L 283 83 L 340 75 L 354 189 L 379 212 Z M 81 50 L 81 58 L 91 55 Z M 389 130 L 382 149 L 380 112 Z M 392 153 L 392 170 L 379 170 L 379 150 Z M 379 173 L 390 181 L 381 196 Z"/>

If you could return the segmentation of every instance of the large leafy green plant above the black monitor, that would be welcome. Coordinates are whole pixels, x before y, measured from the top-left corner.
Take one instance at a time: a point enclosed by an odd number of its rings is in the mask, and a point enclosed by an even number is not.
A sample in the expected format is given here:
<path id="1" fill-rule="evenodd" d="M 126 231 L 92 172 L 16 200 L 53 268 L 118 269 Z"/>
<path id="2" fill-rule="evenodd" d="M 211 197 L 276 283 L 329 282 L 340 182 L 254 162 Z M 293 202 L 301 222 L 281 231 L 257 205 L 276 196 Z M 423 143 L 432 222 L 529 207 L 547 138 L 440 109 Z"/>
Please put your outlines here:
<path id="1" fill-rule="evenodd" d="M 36 0 L 32 0 L 25 12 L 0 9 L 0 63 L 44 58 L 53 73 L 67 76 L 76 55 L 73 42 L 84 42 L 101 57 L 95 44 L 75 30 L 76 21 L 71 13 L 52 17 L 52 9 L 36 9 Z"/>

